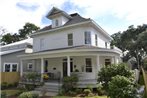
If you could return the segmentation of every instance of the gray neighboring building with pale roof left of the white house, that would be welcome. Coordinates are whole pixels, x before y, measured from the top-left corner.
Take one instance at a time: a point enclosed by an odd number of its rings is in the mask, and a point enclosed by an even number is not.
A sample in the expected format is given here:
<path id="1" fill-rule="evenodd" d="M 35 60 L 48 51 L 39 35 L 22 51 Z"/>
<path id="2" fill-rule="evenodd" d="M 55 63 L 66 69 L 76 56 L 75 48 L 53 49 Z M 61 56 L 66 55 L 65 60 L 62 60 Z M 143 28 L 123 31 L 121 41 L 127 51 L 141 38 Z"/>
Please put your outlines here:
<path id="1" fill-rule="evenodd" d="M 20 58 L 18 55 L 32 52 L 32 38 L 1 46 L 0 72 L 19 72 Z"/>

